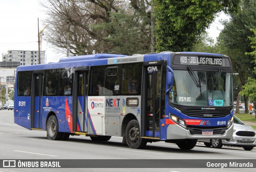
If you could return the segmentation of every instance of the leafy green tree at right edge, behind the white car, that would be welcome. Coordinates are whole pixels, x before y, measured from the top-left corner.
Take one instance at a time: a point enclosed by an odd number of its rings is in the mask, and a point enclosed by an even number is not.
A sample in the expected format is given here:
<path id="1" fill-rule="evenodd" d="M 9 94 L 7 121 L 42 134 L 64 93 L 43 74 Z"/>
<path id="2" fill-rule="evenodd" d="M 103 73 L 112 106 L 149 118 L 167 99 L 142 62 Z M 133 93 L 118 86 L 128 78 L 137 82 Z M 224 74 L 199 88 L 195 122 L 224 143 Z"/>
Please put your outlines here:
<path id="1" fill-rule="evenodd" d="M 242 0 L 240 9 L 230 14 L 230 22 L 224 22 L 218 41 L 225 47 L 226 55 L 231 58 L 233 69 L 238 73 L 241 86 L 244 86 L 248 77 L 254 77 L 252 72 L 253 57 L 246 54 L 251 52 L 249 36 L 253 32 L 250 28 L 256 28 L 256 2 L 255 0 Z M 248 113 L 248 95 L 243 94 L 246 113 Z"/>

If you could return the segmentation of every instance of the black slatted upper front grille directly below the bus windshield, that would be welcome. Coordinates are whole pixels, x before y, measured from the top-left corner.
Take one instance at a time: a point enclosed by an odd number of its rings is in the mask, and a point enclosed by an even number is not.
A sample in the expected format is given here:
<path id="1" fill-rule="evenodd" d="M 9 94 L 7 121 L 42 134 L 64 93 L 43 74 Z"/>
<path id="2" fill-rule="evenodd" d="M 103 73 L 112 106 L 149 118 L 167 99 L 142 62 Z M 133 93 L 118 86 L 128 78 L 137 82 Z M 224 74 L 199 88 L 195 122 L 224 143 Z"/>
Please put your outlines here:
<path id="1" fill-rule="evenodd" d="M 187 109 L 183 112 L 188 117 L 200 117 L 200 118 L 219 118 L 226 117 L 230 113 L 227 110 L 198 110 Z"/>

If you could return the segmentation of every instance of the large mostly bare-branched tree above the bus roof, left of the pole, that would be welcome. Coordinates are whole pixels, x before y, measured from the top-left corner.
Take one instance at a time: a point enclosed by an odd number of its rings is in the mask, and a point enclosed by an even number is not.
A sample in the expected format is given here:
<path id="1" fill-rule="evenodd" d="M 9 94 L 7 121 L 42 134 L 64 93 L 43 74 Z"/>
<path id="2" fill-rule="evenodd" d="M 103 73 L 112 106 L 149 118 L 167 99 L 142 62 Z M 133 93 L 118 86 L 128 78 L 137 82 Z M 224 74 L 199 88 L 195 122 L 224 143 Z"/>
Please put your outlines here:
<path id="1" fill-rule="evenodd" d="M 60 51 L 68 45 L 72 55 L 120 53 L 120 49 L 131 55 L 148 52 L 151 45 L 146 0 L 48 0 L 47 5 L 41 4 L 49 16 L 44 21 L 49 24 L 46 39 Z"/>

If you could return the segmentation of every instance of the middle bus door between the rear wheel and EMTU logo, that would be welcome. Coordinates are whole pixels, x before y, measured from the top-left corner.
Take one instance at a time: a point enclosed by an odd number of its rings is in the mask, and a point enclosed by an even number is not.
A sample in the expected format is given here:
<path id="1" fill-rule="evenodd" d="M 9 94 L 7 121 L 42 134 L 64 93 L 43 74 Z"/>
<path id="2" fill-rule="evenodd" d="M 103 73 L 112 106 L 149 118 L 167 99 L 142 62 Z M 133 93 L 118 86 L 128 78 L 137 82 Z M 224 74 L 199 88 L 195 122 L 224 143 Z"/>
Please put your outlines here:
<path id="1" fill-rule="evenodd" d="M 74 98 L 76 99 L 76 107 L 74 114 L 76 121 L 74 121 L 74 129 L 77 132 L 87 132 L 87 89 L 88 89 L 88 71 L 78 71 L 76 73 L 75 85 L 77 91 L 74 91 Z M 77 96 L 76 96 L 77 94 Z M 75 124 L 76 123 L 76 124 Z"/>

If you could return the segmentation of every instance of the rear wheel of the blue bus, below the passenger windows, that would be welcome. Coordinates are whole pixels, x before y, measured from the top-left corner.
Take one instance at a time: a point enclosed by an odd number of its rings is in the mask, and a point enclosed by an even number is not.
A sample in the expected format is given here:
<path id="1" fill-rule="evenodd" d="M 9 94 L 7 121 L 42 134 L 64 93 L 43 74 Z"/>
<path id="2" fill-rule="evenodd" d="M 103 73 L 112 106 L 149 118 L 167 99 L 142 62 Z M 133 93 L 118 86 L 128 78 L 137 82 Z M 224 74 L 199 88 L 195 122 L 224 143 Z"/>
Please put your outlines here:
<path id="1" fill-rule="evenodd" d="M 50 140 L 61 140 L 63 138 L 63 132 L 59 132 L 58 121 L 56 116 L 49 117 L 46 125 L 47 137 Z"/>

